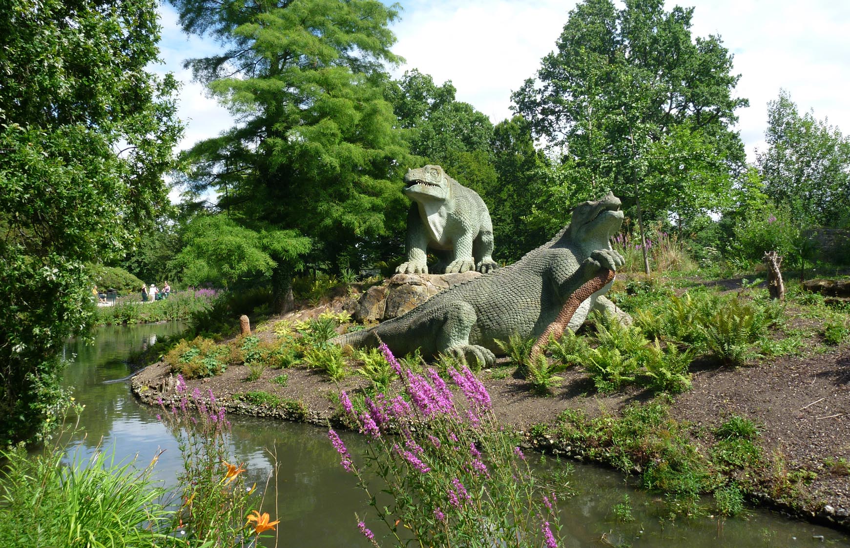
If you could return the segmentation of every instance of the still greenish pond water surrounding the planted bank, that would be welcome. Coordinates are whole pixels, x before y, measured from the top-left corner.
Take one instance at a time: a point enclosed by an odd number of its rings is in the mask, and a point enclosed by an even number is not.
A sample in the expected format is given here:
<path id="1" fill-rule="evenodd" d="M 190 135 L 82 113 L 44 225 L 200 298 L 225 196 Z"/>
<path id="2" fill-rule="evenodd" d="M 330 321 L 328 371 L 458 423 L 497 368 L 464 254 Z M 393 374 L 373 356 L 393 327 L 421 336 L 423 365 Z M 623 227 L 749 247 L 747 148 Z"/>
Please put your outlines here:
<path id="1" fill-rule="evenodd" d="M 156 466 L 158 477 L 173 485 L 180 468 L 177 443 L 156 419 L 157 410 L 139 404 L 127 382 L 112 381 L 131 371 L 127 355 L 184 328 L 178 322 L 158 325 L 105 326 L 95 334 L 94 345 L 68 342 L 69 360 L 65 385 L 72 387 L 85 404 L 80 416 L 84 433 L 77 449 L 89 454 L 100 444 L 114 449 L 116 460 L 139 455 L 139 463 L 164 449 Z M 369 506 L 354 477 L 339 466 L 337 453 L 319 427 L 273 419 L 231 415 L 232 451 L 237 461 L 246 462 L 247 483 L 266 485 L 263 511 L 280 519 L 277 545 L 338 547 L 367 545 L 355 527 L 354 513 L 369 514 Z M 341 432 L 352 454 L 363 447 L 359 436 Z M 271 453 L 276 457 L 272 458 Z M 277 472 L 274 473 L 274 462 Z M 560 466 L 550 462 L 549 466 Z M 748 548 L 754 546 L 842 546 L 850 548 L 847 535 L 830 528 L 797 522 L 768 511 L 750 511 L 745 518 L 717 520 L 701 517 L 689 521 L 662 522 L 663 506 L 655 497 L 630 489 L 621 474 L 592 465 L 576 465 L 571 479 L 575 496 L 564 501 L 565 545 L 664 546 L 665 548 Z M 632 503 L 633 523 L 615 523 L 610 508 L 627 494 Z M 276 499 L 276 501 L 275 501 Z M 276 508 L 275 508 L 276 506 Z M 377 537 L 382 529 L 373 527 Z M 821 538 L 822 537 L 822 538 Z M 265 543 L 275 546 L 275 539 Z"/>

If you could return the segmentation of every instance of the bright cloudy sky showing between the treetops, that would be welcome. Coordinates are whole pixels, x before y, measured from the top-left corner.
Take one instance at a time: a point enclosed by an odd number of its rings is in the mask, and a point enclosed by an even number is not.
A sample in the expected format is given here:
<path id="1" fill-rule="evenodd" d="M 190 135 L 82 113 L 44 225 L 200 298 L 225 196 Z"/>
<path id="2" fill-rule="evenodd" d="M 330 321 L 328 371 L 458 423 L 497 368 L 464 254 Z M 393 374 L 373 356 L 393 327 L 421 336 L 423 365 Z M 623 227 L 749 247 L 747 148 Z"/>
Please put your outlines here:
<path id="1" fill-rule="evenodd" d="M 434 82 L 450 80 L 456 99 L 466 101 L 497 123 L 512 116 L 511 93 L 534 76 L 543 56 L 567 22 L 574 0 L 403 0 L 401 19 L 392 25 L 393 51 L 405 65 L 392 72 L 419 69 Z M 668 2 L 670 9 L 677 3 Z M 768 101 L 784 88 L 801 114 L 850 133 L 850 2 L 844 0 L 691 0 L 694 37 L 719 35 L 734 54 L 734 93 L 750 100 L 737 111 L 747 155 L 764 149 Z M 179 116 L 186 121 L 180 148 L 213 137 L 232 125 L 226 110 L 191 82 L 184 59 L 218 51 L 209 39 L 187 37 L 170 5 L 160 8 L 161 57 L 156 71 L 173 71 L 184 82 Z"/>

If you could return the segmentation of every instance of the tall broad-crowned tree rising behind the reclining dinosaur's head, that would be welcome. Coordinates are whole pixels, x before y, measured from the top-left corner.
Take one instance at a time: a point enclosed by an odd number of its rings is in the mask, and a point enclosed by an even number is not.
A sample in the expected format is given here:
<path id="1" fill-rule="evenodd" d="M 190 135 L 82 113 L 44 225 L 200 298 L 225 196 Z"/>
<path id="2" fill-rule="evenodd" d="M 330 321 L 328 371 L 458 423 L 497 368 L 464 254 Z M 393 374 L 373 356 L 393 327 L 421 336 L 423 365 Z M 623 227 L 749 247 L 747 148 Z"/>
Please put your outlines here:
<path id="1" fill-rule="evenodd" d="M 642 201 L 683 218 L 686 206 L 713 203 L 684 204 L 683 196 L 706 180 L 708 194 L 728 194 L 726 175 L 744 161 L 731 129 L 734 110 L 747 105 L 732 96 L 739 76 L 729 73 L 732 56 L 719 37 L 692 40 L 693 13 L 666 12 L 661 0 L 626 0 L 619 10 L 611 0 L 586 0 L 570 12 L 536 80 L 513 93 L 514 110 L 536 137 L 564 150 L 573 178 L 594 195 L 613 189 L 633 204 L 642 238 Z M 683 146 L 698 150 L 683 154 Z"/>

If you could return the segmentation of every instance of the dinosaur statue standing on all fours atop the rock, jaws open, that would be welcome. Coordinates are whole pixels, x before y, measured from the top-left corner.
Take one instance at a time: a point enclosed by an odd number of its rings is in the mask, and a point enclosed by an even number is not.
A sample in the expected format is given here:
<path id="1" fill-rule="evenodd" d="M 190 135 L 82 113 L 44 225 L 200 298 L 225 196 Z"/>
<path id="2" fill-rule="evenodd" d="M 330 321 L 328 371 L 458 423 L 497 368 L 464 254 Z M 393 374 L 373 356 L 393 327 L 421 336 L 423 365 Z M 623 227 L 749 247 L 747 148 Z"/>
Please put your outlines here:
<path id="1" fill-rule="evenodd" d="M 413 204 L 407 214 L 407 261 L 396 272 L 428 274 L 428 250 L 439 257 L 432 274 L 496 269 L 493 224 L 478 194 L 439 166 L 408 170 L 403 192 Z"/>

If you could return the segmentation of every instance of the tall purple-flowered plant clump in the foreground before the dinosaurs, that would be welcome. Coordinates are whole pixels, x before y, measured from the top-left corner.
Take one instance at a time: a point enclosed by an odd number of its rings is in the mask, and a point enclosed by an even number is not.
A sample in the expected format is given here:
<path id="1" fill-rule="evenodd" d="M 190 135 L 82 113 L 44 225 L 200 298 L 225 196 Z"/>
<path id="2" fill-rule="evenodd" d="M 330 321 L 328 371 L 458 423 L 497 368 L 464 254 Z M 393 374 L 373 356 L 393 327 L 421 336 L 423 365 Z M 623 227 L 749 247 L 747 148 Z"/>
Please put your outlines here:
<path id="1" fill-rule="evenodd" d="M 328 437 L 340 464 L 357 477 L 387 525 L 391 542 L 555 545 L 557 496 L 541 489 L 516 440 L 496 421 L 490 397 L 473 372 L 466 366 L 449 370 L 465 396 L 465 401 L 456 400 L 433 368 L 424 375 L 402 370 L 387 347 L 382 352 L 404 381 L 405 397 L 366 398 L 367 411 L 358 412 L 346 393 L 340 395 L 346 415 L 371 438 L 364 464 L 355 464 L 337 432 L 330 429 Z M 424 431 L 423 422 L 428 424 Z M 373 489 L 374 483 L 380 486 Z M 378 489 L 388 494 L 388 503 L 375 504 Z M 359 517 L 358 522 L 361 533 L 373 540 Z M 397 533 L 398 523 L 405 524 L 404 538 Z"/>

